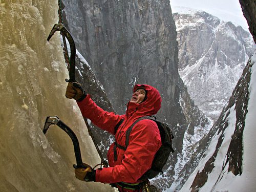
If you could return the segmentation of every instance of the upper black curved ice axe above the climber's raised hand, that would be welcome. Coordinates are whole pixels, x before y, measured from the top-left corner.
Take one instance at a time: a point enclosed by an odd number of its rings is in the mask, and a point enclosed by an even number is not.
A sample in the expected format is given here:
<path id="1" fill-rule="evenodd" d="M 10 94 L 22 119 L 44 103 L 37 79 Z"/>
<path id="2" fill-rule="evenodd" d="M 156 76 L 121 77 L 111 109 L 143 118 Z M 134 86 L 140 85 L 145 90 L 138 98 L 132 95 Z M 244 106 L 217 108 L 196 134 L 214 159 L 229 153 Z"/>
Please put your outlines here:
<path id="1" fill-rule="evenodd" d="M 75 65 L 76 65 L 76 46 L 74 39 L 70 32 L 63 26 L 63 24 L 55 24 L 47 38 L 49 41 L 56 31 L 60 31 L 69 41 L 70 45 L 70 66 L 69 66 L 69 80 L 67 82 L 75 82 Z"/>

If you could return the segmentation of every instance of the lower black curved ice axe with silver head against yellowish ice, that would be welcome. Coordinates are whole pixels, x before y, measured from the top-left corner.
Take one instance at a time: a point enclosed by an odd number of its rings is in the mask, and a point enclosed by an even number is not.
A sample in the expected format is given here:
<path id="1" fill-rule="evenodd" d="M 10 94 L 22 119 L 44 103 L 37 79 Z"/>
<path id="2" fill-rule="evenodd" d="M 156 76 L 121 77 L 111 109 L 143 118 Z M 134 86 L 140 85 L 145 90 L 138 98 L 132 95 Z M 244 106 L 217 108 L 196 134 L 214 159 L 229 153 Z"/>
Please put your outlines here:
<path id="1" fill-rule="evenodd" d="M 73 145 L 74 145 L 74 150 L 75 150 L 75 157 L 76 157 L 76 165 L 73 165 L 74 168 L 87 168 L 82 164 L 82 157 L 81 157 L 81 152 L 80 152 L 80 147 L 79 147 L 79 142 L 78 139 L 75 135 L 75 133 L 70 129 L 68 125 L 63 123 L 57 116 L 49 116 L 46 118 L 44 130 L 42 131 L 44 134 L 46 134 L 47 130 L 49 129 L 50 125 L 56 124 L 57 126 L 60 127 L 63 131 L 65 131 L 71 138 Z"/>

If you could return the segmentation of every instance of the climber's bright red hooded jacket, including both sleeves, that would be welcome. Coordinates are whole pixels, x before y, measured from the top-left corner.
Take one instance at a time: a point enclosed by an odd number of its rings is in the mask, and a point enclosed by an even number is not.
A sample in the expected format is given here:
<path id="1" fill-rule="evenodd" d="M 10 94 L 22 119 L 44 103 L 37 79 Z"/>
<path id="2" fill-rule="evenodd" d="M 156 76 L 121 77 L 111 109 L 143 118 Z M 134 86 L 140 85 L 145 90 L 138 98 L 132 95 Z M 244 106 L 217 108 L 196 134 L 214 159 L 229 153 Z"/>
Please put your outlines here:
<path id="1" fill-rule="evenodd" d="M 90 98 L 90 95 L 77 103 L 84 117 L 113 135 L 115 126 L 124 118 L 115 134 L 115 139 L 119 145 L 125 146 L 125 132 L 133 122 L 140 117 L 156 114 L 161 107 L 162 99 L 155 88 L 146 84 L 137 84 L 134 92 L 141 86 L 147 91 L 146 100 L 140 104 L 129 102 L 125 115 L 115 115 L 113 112 L 102 110 Z M 102 183 L 138 182 L 138 179 L 151 168 L 160 146 L 161 137 L 156 122 L 148 119 L 139 121 L 133 127 L 126 151 L 117 148 L 117 161 L 114 161 L 114 143 L 112 143 L 108 152 L 110 167 L 97 169 L 96 181 Z"/>

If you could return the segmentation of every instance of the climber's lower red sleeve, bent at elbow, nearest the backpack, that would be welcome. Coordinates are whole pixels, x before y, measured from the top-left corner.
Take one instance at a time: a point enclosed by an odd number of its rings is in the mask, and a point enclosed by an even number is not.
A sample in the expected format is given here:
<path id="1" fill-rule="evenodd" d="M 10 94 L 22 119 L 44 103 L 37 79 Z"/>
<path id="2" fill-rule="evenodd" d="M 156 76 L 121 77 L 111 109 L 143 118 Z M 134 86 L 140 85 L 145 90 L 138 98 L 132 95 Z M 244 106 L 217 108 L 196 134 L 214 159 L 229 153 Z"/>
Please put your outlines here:
<path id="1" fill-rule="evenodd" d="M 161 136 L 156 122 L 141 120 L 130 135 L 129 145 L 120 165 L 96 170 L 96 181 L 102 183 L 135 183 L 151 168 L 156 152 L 161 146 Z"/>

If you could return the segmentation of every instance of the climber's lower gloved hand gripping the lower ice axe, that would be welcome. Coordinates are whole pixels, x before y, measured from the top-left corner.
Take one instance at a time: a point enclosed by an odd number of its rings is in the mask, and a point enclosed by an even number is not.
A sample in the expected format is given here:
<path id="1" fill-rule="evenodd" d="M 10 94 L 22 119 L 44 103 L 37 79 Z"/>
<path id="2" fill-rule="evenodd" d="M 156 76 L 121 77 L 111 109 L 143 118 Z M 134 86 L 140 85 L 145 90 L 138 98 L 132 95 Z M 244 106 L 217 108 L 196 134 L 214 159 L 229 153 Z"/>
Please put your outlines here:
<path id="1" fill-rule="evenodd" d="M 86 168 L 75 168 L 76 178 L 81 181 L 95 181 L 96 170 L 86 163 L 83 165 Z"/>

